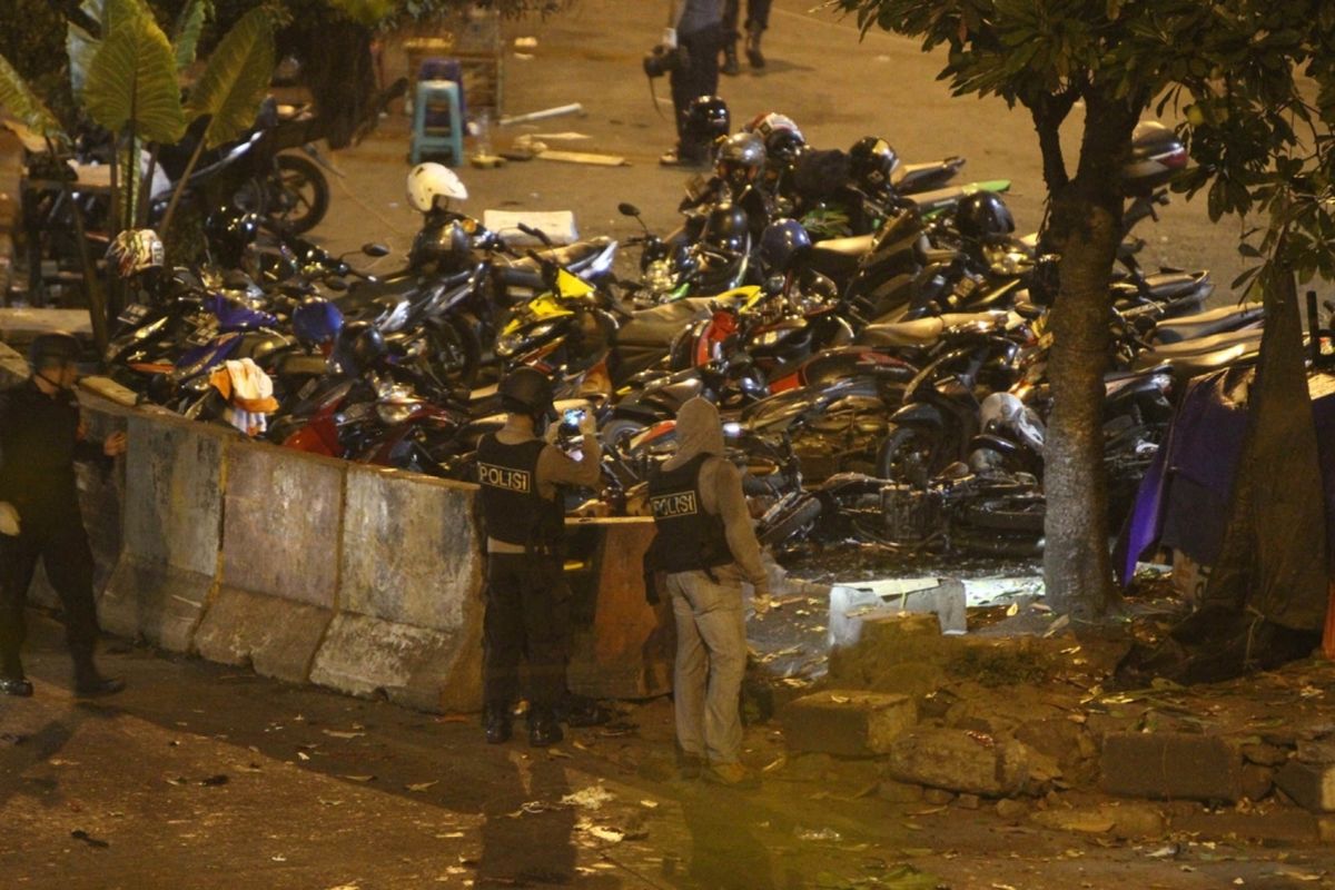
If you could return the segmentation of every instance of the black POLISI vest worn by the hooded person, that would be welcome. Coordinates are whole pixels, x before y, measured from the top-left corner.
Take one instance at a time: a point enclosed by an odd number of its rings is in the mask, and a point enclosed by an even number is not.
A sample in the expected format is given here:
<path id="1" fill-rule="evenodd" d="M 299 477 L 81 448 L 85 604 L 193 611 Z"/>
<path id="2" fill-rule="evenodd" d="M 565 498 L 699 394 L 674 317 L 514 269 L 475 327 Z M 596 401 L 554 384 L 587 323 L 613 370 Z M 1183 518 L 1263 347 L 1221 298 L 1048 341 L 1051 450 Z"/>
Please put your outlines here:
<path id="1" fill-rule="evenodd" d="M 705 512 L 700 468 L 710 456 L 696 455 L 676 470 L 649 474 L 649 507 L 657 535 L 654 568 L 665 572 L 709 570 L 733 562 L 722 516 Z"/>

